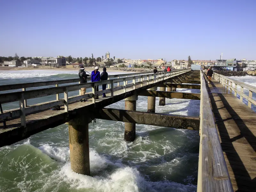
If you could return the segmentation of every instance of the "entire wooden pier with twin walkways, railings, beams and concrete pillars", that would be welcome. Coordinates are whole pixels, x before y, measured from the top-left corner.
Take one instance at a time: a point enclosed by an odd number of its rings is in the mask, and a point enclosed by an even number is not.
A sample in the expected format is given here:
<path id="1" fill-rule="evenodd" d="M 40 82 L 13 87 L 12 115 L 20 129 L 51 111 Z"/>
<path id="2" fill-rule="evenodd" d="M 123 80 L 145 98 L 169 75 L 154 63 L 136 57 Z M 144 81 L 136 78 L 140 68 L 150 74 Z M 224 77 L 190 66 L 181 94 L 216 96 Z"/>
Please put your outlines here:
<path id="1" fill-rule="evenodd" d="M 136 123 L 192 129 L 200 134 L 198 192 L 255 191 L 256 128 L 253 121 L 256 113 L 251 106 L 256 104 L 252 99 L 256 88 L 215 73 L 213 77 L 212 83 L 207 84 L 203 71 L 181 69 L 157 74 L 115 75 L 106 81 L 64 86 L 61 84 L 75 83 L 79 79 L 2 85 L 0 91 L 22 91 L 0 92 L 2 104 L 20 103 L 20 108 L 0 114 L 0 147 L 68 122 L 71 169 L 90 175 L 88 123 L 94 118 L 125 122 L 124 139 L 129 141 L 134 140 Z M 95 86 L 101 84 L 108 84 L 107 89 L 96 92 Z M 55 87 L 41 88 L 48 85 Z M 241 91 L 237 86 L 241 86 Z M 40 89 L 26 90 L 30 87 Z M 68 96 L 69 92 L 83 87 L 92 88 L 92 92 Z M 201 93 L 176 92 L 176 88 L 201 89 Z M 244 89 L 249 90 L 248 95 Z M 60 93 L 64 93 L 64 99 L 59 98 Z M 97 99 L 96 96 L 102 93 L 106 93 L 107 98 Z M 248 106 L 237 99 L 236 94 L 247 99 Z M 56 100 L 27 105 L 28 99 L 48 95 L 56 95 Z M 136 111 L 138 95 L 148 97 L 148 112 Z M 200 100 L 200 117 L 155 113 L 156 97 L 161 98 L 161 105 L 165 105 L 165 98 Z M 88 101 L 79 102 L 84 98 Z M 125 110 L 105 108 L 123 99 Z M 50 110 L 56 105 L 61 106 L 60 110 Z"/>

